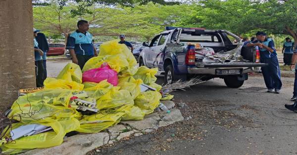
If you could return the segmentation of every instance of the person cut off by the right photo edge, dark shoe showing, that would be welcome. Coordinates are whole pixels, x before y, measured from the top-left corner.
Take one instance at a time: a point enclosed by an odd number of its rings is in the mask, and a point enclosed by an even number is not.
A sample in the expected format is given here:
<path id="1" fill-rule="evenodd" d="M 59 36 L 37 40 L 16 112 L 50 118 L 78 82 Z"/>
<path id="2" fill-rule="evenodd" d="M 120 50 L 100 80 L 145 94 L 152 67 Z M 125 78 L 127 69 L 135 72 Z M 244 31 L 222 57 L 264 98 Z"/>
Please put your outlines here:
<path id="1" fill-rule="evenodd" d="M 297 113 L 297 49 L 295 48 L 293 57 L 292 57 L 292 64 L 291 69 L 295 70 L 295 81 L 294 81 L 294 92 L 293 97 L 290 99 L 291 101 L 295 101 L 293 105 L 285 104 L 285 107 L 293 112 Z"/>

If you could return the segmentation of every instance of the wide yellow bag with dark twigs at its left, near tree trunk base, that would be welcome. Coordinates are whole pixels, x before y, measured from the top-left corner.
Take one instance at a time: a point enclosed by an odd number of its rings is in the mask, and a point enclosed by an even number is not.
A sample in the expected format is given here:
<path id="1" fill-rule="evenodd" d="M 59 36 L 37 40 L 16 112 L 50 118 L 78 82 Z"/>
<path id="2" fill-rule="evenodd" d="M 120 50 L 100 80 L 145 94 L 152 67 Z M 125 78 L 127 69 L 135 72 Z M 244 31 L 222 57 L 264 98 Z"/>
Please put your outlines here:
<path id="1" fill-rule="evenodd" d="M 24 122 L 46 117 L 79 117 L 76 110 L 68 108 L 71 96 L 67 89 L 48 89 L 20 96 L 12 104 L 8 118 Z"/>

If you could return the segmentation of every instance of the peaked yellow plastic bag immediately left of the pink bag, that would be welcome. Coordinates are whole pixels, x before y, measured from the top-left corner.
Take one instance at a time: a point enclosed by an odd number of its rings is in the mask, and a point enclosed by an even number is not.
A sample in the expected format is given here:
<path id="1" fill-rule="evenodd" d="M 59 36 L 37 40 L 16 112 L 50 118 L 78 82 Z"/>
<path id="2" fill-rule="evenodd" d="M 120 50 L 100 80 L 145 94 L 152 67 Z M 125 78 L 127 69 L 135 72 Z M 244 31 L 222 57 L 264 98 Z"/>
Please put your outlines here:
<path id="1" fill-rule="evenodd" d="M 67 81 L 82 83 L 82 77 L 83 74 L 80 67 L 77 64 L 68 63 L 57 76 L 57 79 L 64 79 Z"/>

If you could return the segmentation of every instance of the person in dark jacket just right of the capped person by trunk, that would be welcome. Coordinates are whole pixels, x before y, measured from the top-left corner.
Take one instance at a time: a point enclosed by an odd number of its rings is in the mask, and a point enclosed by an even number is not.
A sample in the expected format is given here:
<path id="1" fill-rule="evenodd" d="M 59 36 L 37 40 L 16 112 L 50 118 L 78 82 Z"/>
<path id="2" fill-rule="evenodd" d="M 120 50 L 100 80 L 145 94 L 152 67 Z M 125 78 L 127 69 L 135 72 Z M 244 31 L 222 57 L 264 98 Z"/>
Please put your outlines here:
<path id="1" fill-rule="evenodd" d="M 47 51 L 49 51 L 49 43 L 44 33 L 38 32 L 37 37 L 35 37 L 38 42 L 38 47 L 44 52 L 42 56 L 43 66 L 44 66 L 44 80 L 48 77 L 47 73 Z"/>

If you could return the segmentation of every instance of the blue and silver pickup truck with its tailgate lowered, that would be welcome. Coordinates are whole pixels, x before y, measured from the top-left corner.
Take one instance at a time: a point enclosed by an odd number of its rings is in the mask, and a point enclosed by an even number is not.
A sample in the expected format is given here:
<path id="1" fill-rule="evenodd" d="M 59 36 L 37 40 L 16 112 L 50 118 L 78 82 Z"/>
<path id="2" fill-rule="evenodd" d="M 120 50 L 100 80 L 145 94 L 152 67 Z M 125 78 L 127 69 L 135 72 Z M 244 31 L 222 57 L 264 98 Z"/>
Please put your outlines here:
<path id="1" fill-rule="evenodd" d="M 146 47 L 139 56 L 139 66 L 164 71 L 165 83 L 192 77 L 202 80 L 219 77 L 224 79 L 228 87 L 237 88 L 247 80 L 247 73 L 259 72 L 261 67 L 267 65 L 255 63 L 256 52 L 253 47 L 240 48 L 244 61 L 213 61 L 199 57 L 197 52 L 199 47 L 203 47 L 214 53 L 224 53 L 237 48 L 240 42 L 238 36 L 226 30 L 166 27 L 166 31 L 156 35 L 150 42 L 143 43 Z"/>

